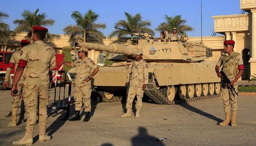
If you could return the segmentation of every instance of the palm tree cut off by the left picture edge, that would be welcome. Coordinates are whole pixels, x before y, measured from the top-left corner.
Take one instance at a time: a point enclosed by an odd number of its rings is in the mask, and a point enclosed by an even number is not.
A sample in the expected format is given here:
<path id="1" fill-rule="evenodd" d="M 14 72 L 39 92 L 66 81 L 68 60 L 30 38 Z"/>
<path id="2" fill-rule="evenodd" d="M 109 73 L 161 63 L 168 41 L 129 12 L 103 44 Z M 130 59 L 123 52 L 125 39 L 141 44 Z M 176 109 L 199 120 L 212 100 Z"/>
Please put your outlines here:
<path id="1" fill-rule="evenodd" d="M 4 13 L 4 12 L 0 12 L 0 41 L 5 42 L 8 38 L 8 33 L 10 31 L 9 25 L 2 22 L 2 19 L 5 18 L 9 18 L 9 15 Z"/>

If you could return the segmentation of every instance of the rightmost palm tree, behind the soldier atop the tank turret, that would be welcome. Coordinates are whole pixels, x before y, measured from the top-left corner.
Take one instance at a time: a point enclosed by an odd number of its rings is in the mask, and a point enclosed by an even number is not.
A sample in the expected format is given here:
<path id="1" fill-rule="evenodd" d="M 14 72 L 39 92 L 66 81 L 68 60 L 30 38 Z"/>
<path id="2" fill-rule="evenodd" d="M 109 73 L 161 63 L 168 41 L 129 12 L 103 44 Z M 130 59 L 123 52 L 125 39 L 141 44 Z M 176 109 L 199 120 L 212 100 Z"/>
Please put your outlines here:
<path id="1" fill-rule="evenodd" d="M 181 19 L 181 15 L 176 15 L 174 17 L 169 17 L 165 15 L 166 22 L 160 23 L 156 31 L 168 31 L 172 32 L 172 28 L 177 28 L 177 34 L 181 36 L 187 35 L 186 32 L 193 31 L 193 28 L 189 25 L 185 25 L 187 20 Z"/>

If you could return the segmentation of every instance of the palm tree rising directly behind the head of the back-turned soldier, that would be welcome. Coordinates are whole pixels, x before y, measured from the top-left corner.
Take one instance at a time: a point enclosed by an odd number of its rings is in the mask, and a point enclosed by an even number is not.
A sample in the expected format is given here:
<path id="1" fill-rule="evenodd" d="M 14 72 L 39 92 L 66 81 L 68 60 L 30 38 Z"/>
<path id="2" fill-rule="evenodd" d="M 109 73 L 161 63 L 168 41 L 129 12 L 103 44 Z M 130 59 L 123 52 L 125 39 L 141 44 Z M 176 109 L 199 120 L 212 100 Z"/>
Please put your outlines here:
<path id="1" fill-rule="evenodd" d="M 40 26 L 52 26 L 55 23 L 53 19 L 47 19 L 46 13 L 38 14 L 39 8 L 35 10 L 35 12 L 31 12 L 29 10 L 24 10 L 22 12 L 23 19 L 14 20 L 14 24 L 18 24 L 18 26 L 14 29 L 13 35 L 20 32 L 28 32 L 27 37 L 31 36 L 32 26 L 40 25 Z M 47 34 L 49 37 L 49 34 Z"/>

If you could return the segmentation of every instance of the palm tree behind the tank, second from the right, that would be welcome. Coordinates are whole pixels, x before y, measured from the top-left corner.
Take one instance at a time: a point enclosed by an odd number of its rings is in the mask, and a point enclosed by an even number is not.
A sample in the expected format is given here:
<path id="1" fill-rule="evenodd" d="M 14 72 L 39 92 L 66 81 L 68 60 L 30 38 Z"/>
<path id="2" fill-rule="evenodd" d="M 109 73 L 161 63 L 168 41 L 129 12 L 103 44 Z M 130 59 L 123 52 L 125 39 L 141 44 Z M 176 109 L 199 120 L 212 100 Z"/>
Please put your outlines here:
<path id="1" fill-rule="evenodd" d="M 155 32 L 148 28 L 151 26 L 151 22 L 149 20 L 142 20 L 141 14 L 135 14 L 134 16 L 129 14 L 128 12 L 125 12 L 126 20 L 119 20 L 117 23 L 115 23 L 115 27 L 126 29 L 129 32 L 141 32 L 141 33 L 149 33 L 152 36 L 155 35 Z M 131 38 L 133 38 L 133 35 L 129 32 L 121 30 L 121 29 L 115 29 L 112 33 L 110 33 L 109 37 L 118 36 L 125 37 L 127 35 L 131 35 Z"/>

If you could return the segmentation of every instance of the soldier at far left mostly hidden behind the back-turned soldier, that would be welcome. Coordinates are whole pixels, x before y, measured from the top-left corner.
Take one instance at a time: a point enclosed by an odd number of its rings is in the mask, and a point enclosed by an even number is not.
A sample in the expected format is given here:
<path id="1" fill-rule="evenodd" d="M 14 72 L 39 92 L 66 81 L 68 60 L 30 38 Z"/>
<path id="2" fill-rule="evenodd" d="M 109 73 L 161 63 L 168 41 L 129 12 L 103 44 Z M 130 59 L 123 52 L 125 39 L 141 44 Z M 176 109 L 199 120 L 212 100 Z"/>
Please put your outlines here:
<path id="1" fill-rule="evenodd" d="M 28 40 L 21 40 L 20 41 L 20 48 L 23 48 L 23 46 L 26 46 L 30 44 L 30 41 Z M 10 59 L 10 63 L 7 67 L 6 70 L 6 74 L 5 74 L 5 82 L 3 83 L 3 87 L 6 89 L 9 87 L 9 79 L 10 79 L 10 73 L 13 67 L 15 67 L 15 69 L 18 66 L 18 62 L 20 59 L 20 50 L 16 50 L 15 53 L 13 53 L 13 55 L 11 55 L 11 59 Z M 22 74 L 22 78 L 19 79 L 18 84 L 17 84 L 17 88 L 18 88 L 18 93 L 13 97 L 13 102 L 11 102 L 11 122 L 8 124 L 8 126 L 10 127 L 15 127 L 17 126 L 17 112 L 18 112 L 18 108 L 19 108 L 19 99 L 21 97 L 22 94 L 22 88 L 23 88 L 23 83 L 24 83 L 24 78 L 23 78 L 24 74 Z M 20 104 L 20 117 L 19 117 L 19 122 L 18 123 L 22 123 L 23 119 L 24 119 L 24 114 L 25 114 L 25 107 L 24 107 L 24 101 L 21 101 Z"/>

